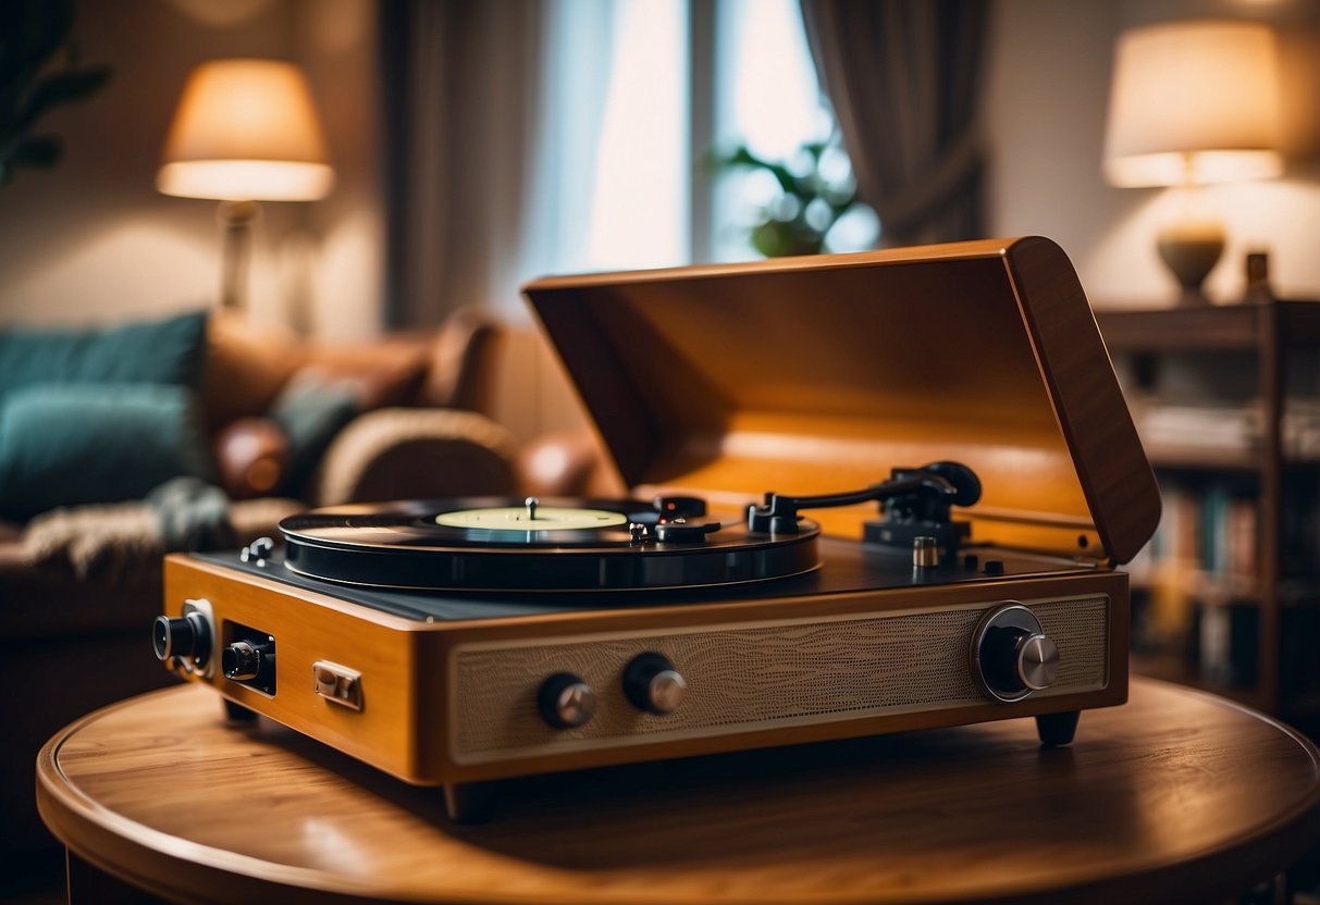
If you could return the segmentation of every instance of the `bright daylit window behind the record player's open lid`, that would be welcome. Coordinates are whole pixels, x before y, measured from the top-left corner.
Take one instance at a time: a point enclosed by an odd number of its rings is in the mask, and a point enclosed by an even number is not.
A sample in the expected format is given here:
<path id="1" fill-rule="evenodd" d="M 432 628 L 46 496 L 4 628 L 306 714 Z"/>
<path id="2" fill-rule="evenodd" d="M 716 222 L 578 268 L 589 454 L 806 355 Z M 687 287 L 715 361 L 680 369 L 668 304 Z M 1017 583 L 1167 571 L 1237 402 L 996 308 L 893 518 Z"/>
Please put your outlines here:
<path id="1" fill-rule="evenodd" d="M 527 236 L 541 266 L 531 270 L 758 257 L 758 218 L 792 219 L 796 202 L 764 170 L 710 174 L 706 150 L 742 142 L 799 175 L 818 166 L 830 185 L 850 189 L 837 145 L 818 164 L 801 150 L 828 142 L 834 124 L 795 0 L 560 0 L 549 9 Z M 709 58 L 692 47 L 709 47 Z M 696 123 L 698 113 L 709 120 Z M 876 232 L 874 214 L 850 212 L 826 249 L 867 247 Z"/>

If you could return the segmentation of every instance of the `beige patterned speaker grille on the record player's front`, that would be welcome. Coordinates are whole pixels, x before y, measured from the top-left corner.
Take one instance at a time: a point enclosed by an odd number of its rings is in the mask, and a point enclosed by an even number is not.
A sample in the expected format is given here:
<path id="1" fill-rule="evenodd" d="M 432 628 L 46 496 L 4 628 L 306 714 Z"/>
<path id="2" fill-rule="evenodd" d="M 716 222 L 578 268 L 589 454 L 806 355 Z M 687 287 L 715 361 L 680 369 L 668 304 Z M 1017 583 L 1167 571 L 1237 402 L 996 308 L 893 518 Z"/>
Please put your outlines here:
<path id="1" fill-rule="evenodd" d="M 473 764 L 985 703 L 969 645 L 977 620 L 999 603 L 469 645 L 453 661 L 450 753 Z M 1055 685 L 1035 697 L 1105 687 L 1109 598 L 1027 606 L 1060 652 Z M 623 695 L 624 666 L 647 650 L 668 657 L 688 682 L 682 706 L 664 718 L 640 712 Z M 554 730 L 541 719 L 537 689 L 558 671 L 595 690 L 597 712 L 586 726 Z"/>

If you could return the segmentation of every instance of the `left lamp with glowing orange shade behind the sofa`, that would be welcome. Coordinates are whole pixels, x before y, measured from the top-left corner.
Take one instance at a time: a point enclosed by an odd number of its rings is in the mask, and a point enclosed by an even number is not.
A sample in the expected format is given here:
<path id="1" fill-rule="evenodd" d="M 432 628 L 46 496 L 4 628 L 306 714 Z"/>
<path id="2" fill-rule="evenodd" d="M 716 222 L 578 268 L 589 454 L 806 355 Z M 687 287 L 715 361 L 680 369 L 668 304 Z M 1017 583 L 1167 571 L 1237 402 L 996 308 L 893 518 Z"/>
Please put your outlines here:
<path id="1" fill-rule="evenodd" d="M 187 78 L 156 187 L 220 202 L 223 307 L 243 307 L 249 224 L 261 201 L 317 201 L 334 170 L 306 78 L 293 63 L 215 59 Z"/>

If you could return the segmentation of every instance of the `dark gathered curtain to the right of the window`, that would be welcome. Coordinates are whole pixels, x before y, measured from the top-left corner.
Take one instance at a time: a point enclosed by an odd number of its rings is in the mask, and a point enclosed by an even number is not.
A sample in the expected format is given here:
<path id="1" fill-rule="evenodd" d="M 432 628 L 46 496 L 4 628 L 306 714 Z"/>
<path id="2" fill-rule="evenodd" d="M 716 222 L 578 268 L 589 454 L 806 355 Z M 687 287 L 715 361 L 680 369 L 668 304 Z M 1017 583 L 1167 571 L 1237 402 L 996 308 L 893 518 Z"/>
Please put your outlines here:
<path id="1" fill-rule="evenodd" d="M 801 0 L 816 71 L 886 245 L 985 236 L 985 0 Z"/>

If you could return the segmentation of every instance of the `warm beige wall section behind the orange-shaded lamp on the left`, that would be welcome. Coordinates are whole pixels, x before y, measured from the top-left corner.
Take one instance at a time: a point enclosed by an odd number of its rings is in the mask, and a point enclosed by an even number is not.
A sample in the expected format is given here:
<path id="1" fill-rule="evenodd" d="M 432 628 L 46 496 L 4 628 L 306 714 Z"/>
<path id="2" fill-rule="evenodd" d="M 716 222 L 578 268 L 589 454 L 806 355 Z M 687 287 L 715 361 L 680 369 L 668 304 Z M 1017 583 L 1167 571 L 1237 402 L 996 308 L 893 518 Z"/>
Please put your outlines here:
<path id="1" fill-rule="evenodd" d="M 252 315 L 322 335 L 378 330 L 374 4 L 366 0 L 115 0 L 79 4 L 81 58 L 111 83 L 41 125 L 65 140 L 51 170 L 0 189 L 0 323 L 112 322 L 214 303 L 215 202 L 154 189 L 189 70 L 215 57 L 301 62 L 337 169 L 315 204 L 265 204 L 255 224 Z"/>

